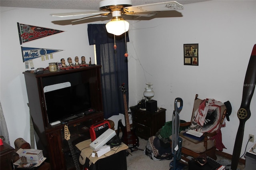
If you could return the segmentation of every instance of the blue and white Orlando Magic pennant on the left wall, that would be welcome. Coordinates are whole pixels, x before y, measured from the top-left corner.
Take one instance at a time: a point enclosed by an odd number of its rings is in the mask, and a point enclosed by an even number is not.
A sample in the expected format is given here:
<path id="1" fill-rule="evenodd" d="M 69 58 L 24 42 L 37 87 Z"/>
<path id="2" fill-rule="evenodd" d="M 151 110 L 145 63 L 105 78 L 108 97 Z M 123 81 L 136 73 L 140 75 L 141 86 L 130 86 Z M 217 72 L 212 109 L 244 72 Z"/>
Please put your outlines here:
<path id="1" fill-rule="evenodd" d="M 46 59 L 48 58 L 48 55 L 50 55 L 50 59 L 52 59 L 52 53 L 56 53 L 59 51 L 59 49 L 44 49 L 44 48 L 31 48 L 31 47 L 21 47 L 22 51 L 22 59 L 23 62 L 28 61 L 30 59 L 41 57 L 42 61 L 44 61 L 44 56 Z"/>

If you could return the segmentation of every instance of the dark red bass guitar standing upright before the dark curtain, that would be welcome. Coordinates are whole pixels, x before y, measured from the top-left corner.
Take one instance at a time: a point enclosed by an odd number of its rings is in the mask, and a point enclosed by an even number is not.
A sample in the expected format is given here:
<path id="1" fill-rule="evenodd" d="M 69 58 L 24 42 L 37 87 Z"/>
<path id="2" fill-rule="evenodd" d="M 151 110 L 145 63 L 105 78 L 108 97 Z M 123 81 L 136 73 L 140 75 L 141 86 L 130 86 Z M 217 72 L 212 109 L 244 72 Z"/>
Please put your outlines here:
<path id="1" fill-rule="evenodd" d="M 124 87 L 124 83 L 122 86 L 120 86 L 121 91 L 123 92 L 123 97 L 124 97 L 124 110 L 125 110 L 125 125 L 122 124 L 122 120 L 118 121 L 118 127 L 121 128 L 122 130 L 122 137 L 121 140 L 124 142 L 129 148 L 135 148 L 136 146 L 139 146 L 139 138 L 136 136 L 134 129 L 131 130 L 130 128 L 130 122 L 129 122 L 129 115 L 128 115 L 128 108 L 127 108 L 127 102 L 126 102 L 126 89 Z"/>

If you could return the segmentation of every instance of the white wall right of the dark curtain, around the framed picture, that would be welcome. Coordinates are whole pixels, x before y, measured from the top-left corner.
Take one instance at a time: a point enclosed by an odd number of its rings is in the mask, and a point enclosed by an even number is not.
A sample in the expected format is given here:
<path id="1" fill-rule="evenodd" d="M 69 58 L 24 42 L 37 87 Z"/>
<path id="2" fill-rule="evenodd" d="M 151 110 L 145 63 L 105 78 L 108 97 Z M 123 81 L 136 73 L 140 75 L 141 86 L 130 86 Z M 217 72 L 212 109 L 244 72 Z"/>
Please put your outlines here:
<path id="1" fill-rule="evenodd" d="M 232 154 L 239 125 L 236 113 L 256 43 L 256 1 L 200 2 L 184 5 L 178 12 L 183 17 L 130 24 L 129 36 L 135 38 L 128 44 L 129 105 L 141 99 L 146 82 L 154 84 L 153 99 L 158 106 L 167 109 L 166 121 L 172 119 L 176 97 L 184 101 L 180 117 L 185 121 L 191 119 L 196 94 L 200 99 L 229 100 L 232 114 L 222 128 L 222 141 L 227 148 L 224 152 Z M 199 44 L 199 66 L 184 65 L 186 43 Z M 248 134 L 256 135 L 255 103 L 256 93 L 245 124 L 242 154 Z"/>

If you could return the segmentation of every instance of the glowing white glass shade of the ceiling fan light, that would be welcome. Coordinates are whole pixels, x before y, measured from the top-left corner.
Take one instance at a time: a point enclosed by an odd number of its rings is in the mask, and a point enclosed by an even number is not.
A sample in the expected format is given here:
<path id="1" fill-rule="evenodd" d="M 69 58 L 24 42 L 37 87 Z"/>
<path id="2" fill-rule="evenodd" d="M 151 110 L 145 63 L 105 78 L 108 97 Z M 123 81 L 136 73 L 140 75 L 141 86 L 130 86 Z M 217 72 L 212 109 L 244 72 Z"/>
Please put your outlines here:
<path id="1" fill-rule="evenodd" d="M 111 20 L 106 24 L 106 30 L 110 34 L 120 36 L 129 30 L 129 22 L 125 20 Z"/>

